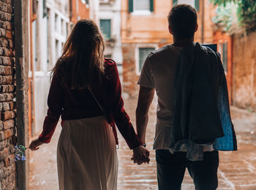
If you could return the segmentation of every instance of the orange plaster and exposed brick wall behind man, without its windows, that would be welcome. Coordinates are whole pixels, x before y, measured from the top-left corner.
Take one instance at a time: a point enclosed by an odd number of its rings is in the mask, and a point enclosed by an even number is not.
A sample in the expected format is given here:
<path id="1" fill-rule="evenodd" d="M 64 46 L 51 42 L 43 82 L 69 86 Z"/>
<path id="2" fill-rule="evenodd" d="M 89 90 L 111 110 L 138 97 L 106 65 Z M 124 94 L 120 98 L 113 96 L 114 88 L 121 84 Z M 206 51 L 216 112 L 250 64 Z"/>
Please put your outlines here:
<path id="1" fill-rule="evenodd" d="M 203 42 L 213 43 L 214 33 L 211 22 L 212 4 L 205 2 L 203 26 Z M 198 12 L 198 31 L 195 41 L 202 42 L 202 3 Z M 154 12 L 151 15 L 135 15 L 128 12 L 128 1 L 121 1 L 121 42 L 123 52 L 123 88 L 124 92 L 134 95 L 138 90 L 138 74 L 136 74 L 136 45 L 157 44 L 162 47 L 173 42 L 168 31 L 167 15 L 172 7 L 170 0 L 154 0 Z"/>

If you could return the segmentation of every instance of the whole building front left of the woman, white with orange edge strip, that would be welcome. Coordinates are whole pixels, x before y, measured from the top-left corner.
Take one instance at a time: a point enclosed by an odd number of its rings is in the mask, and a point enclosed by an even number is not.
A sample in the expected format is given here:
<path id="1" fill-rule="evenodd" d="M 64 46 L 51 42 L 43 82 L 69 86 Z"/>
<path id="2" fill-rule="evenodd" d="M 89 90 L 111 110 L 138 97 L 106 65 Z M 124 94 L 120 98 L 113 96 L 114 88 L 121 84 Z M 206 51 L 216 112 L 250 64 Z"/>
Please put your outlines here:
<path id="1" fill-rule="evenodd" d="M 50 69 L 69 32 L 69 1 L 31 1 L 30 133 L 42 130 L 47 112 Z"/>

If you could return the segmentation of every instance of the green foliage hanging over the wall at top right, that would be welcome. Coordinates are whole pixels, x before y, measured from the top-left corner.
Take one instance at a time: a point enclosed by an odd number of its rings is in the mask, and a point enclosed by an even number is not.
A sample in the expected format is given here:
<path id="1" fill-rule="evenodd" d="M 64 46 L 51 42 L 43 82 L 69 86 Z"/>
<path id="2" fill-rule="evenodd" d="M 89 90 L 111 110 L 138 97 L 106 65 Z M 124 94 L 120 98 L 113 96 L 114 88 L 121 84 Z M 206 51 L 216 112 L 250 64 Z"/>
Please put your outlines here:
<path id="1" fill-rule="evenodd" d="M 217 4 L 217 16 L 213 21 L 229 33 L 256 31 L 255 0 L 211 0 Z"/>

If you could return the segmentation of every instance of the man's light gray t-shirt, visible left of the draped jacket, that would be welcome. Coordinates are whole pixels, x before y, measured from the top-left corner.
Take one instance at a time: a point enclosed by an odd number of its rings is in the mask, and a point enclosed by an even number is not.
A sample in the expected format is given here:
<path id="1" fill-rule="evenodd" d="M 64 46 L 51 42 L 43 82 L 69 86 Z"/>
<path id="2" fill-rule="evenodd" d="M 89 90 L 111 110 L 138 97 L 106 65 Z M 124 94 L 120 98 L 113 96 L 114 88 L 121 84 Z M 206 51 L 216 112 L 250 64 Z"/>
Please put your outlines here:
<path id="1" fill-rule="evenodd" d="M 183 49 L 184 47 L 175 47 L 168 44 L 159 50 L 154 50 L 146 58 L 140 72 L 138 84 L 143 87 L 155 88 L 158 97 L 153 149 L 170 149 L 176 66 Z M 203 151 L 213 150 L 211 145 L 203 146 Z"/>

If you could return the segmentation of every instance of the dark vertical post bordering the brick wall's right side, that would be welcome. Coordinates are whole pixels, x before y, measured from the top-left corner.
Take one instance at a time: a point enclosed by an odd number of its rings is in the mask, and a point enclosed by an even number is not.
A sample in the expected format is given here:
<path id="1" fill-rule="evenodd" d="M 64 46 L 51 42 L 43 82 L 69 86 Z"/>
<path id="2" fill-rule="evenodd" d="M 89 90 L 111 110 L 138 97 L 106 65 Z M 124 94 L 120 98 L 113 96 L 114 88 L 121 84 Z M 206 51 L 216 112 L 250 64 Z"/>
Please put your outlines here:
<path id="1" fill-rule="evenodd" d="M 16 76 L 16 108 L 17 108 L 17 143 L 29 146 L 29 122 L 27 106 L 28 66 L 24 60 L 23 34 L 28 31 L 28 18 L 26 13 L 29 2 L 14 0 L 14 39 L 15 39 L 15 76 Z M 25 9 L 23 8 L 25 7 Z M 24 27 L 24 28 L 23 28 Z M 23 31 L 24 30 L 24 31 Z M 25 44 L 26 46 L 26 44 Z M 26 63 L 26 65 L 25 65 Z M 29 189 L 29 150 L 26 150 L 26 162 L 17 163 L 17 186 L 18 190 Z"/>

